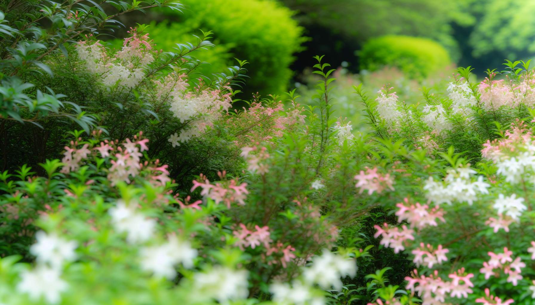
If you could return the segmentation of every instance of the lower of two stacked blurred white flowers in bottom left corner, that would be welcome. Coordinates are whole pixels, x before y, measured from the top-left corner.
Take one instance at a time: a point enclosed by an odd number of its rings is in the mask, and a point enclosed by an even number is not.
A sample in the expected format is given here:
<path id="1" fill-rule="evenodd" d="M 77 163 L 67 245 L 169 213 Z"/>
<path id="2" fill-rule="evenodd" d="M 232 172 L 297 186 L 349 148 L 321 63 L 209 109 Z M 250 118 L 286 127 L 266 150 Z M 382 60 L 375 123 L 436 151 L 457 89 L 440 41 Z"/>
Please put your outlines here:
<path id="1" fill-rule="evenodd" d="M 59 270 L 37 265 L 34 270 L 24 270 L 20 273 L 22 280 L 17 285 L 19 292 L 28 293 L 30 299 L 38 301 L 41 296 L 48 303 L 58 303 L 60 293 L 67 290 L 67 283 L 59 278 Z"/>

